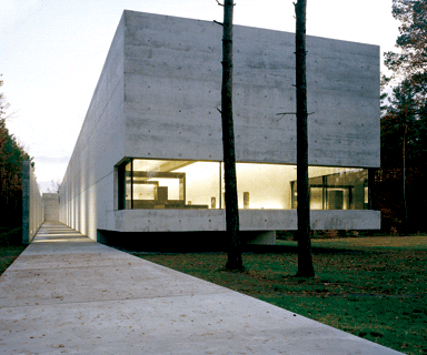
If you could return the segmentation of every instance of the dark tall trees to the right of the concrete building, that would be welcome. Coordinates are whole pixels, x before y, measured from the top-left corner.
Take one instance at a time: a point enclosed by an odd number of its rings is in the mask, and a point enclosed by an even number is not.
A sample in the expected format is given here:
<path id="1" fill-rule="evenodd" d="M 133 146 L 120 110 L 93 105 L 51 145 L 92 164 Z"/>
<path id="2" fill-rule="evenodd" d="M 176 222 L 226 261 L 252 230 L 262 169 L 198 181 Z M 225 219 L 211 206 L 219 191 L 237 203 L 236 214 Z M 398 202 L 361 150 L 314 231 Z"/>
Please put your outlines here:
<path id="1" fill-rule="evenodd" d="M 396 47 L 385 53 L 393 75 L 383 77 L 381 169 L 375 173 L 373 207 L 381 210 L 383 230 L 426 232 L 427 205 L 427 2 L 394 0 L 400 21 Z"/>

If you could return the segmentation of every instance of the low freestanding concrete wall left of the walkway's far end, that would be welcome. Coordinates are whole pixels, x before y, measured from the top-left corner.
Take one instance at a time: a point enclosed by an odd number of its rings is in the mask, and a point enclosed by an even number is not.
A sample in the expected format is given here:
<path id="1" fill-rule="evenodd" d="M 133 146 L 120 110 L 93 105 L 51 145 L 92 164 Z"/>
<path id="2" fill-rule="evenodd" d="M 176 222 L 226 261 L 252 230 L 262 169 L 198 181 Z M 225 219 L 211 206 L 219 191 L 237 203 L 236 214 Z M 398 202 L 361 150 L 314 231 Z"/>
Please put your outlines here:
<path id="1" fill-rule="evenodd" d="M 22 163 L 22 244 L 30 244 L 43 223 L 43 205 L 30 161 Z"/>

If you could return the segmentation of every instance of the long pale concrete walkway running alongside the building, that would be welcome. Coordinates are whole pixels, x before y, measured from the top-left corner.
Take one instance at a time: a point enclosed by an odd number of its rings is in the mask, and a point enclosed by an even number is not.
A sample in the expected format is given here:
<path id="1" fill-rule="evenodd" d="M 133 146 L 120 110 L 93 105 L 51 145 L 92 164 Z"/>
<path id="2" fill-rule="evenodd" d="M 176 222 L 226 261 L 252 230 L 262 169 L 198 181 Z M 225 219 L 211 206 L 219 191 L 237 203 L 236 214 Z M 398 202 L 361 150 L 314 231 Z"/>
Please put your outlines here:
<path id="1" fill-rule="evenodd" d="M 0 277 L 0 354 L 400 354 L 44 223 Z"/>

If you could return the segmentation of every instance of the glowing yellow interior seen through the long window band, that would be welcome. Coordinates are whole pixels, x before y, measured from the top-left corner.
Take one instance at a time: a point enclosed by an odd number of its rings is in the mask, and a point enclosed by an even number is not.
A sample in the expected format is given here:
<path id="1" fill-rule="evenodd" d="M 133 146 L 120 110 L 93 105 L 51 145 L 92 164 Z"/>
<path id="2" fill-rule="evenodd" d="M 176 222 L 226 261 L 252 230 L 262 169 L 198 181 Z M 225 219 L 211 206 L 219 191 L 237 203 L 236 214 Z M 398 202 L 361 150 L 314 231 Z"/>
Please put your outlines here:
<path id="1" fill-rule="evenodd" d="M 239 209 L 297 207 L 296 165 L 237 163 Z M 365 169 L 309 166 L 311 210 L 368 207 Z M 118 165 L 119 210 L 225 209 L 224 163 L 128 159 Z"/>

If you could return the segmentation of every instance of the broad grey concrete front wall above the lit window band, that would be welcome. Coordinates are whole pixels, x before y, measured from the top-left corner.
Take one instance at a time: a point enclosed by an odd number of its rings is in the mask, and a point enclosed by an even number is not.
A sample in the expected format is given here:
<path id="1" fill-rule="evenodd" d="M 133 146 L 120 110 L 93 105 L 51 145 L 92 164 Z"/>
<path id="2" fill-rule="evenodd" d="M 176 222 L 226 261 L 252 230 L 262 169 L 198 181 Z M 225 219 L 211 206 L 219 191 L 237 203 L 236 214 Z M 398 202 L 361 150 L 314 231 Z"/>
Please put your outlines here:
<path id="1" fill-rule="evenodd" d="M 221 31 L 125 12 L 126 155 L 222 160 Z M 379 166 L 379 47 L 307 37 L 309 163 Z M 238 161 L 296 163 L 294 33 L 235 26 Z"/>

